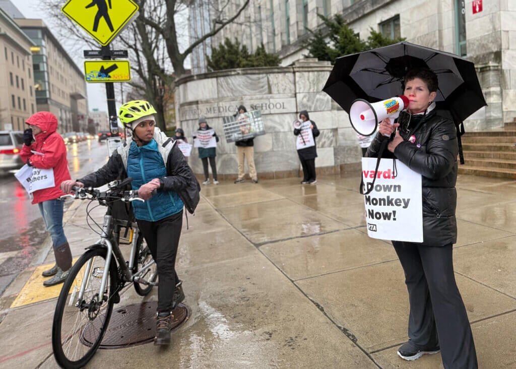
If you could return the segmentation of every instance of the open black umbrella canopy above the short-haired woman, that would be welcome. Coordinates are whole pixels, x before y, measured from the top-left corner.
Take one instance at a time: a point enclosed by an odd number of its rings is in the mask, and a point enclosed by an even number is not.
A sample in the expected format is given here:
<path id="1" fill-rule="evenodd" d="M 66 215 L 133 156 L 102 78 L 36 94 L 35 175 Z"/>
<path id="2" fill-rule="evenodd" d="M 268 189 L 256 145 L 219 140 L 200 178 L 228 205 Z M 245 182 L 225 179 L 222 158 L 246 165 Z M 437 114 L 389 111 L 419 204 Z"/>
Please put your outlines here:
<path id="1" fill-rule="evenodd" d="M 473 62 L 405 41 L 337 58 L 322 90 L 349 114 L 356 99 L 374 103 L 402 94 L 403 77 L 418 67 L 437 74 L 434 101 L 450 110 L 457 122 L 487 105 Z"/>

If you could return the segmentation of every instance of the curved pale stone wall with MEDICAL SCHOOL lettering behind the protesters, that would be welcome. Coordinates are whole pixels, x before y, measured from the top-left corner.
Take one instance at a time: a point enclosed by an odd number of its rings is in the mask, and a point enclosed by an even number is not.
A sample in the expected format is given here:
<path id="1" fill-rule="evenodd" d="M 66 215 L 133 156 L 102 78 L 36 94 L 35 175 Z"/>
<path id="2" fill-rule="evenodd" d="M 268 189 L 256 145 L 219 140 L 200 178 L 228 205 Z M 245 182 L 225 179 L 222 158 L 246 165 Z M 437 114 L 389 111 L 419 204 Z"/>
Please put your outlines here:
<path id="1" fill-rule="evenodd" d="M 205 117 L 220 141 L 217 146 L 219 177 L 234 179 L 237 173 L 236 147 L 227 143 L 222 117 L 236 113 L 238 105 L 261 110 L 266 135 L 254 139 L 254 159 L 259 178 L 299 175 L 293 121 L 300 110 L 308 110 L 320 136 L 316 139 L 318 173 L 339 173 L 360 162 L 361 151 L 348 115 L 322 92 L 332 67 L 316 59 L 302 59 L 291 67 L 236 69 L 187 76 L 178 81 L 176 92 L 178 127 L 191 140 Z M 201 174 L 197 149 L 189 164 Z M 247 170 L 246 170 L 247 172 Z"/>

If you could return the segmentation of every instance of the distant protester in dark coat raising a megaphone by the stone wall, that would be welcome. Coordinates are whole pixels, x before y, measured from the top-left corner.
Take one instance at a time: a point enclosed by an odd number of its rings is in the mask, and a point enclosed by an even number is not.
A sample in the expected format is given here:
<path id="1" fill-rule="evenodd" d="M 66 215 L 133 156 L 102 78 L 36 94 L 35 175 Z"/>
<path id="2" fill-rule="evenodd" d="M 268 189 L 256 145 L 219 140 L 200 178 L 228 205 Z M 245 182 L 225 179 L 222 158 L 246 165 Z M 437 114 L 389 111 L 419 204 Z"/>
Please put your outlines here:
<path id="1" fill-rule="evenodd" d="M 315 148 L 315 137 L 319 136 L 319 130 L 314 121 L 310 120 L 307 110 L 299 113 L 300 121 L 294 121 L 294 135 L 296 139 L 296 149 L 303 168 L 303 180 L 301 184 L 316 184 L 315 158 L 317 149 Z"/>

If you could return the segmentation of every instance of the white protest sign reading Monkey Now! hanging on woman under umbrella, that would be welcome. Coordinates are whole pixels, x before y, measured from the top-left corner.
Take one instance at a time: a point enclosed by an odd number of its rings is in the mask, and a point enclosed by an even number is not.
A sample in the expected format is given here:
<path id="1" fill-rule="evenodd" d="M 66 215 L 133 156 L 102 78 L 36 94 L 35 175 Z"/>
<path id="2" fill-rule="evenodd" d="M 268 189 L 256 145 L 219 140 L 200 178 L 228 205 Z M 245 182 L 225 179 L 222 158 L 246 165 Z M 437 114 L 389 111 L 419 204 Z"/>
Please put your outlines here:
<path id="1" fill-rule="evenodd" d="M 365 188 L 371 188 L 376 158 L 362 158 Z M 373 190 L 364 195 L 367 234 L 372 238 L 423 242 L 421 174 L 396 159 L 381 159 Z M 396 177 L 394 177 L 396 175 Z"/>

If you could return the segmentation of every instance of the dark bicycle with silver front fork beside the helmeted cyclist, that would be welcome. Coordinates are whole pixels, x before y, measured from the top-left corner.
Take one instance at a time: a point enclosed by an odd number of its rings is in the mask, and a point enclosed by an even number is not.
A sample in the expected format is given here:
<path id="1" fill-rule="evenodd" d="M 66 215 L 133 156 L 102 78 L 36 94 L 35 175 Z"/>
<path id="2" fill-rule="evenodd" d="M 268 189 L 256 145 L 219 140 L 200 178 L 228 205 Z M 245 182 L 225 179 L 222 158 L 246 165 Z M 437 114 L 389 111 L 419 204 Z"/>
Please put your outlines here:
<path id="1" fill-rule="evenodd" d="M 137 191 L 123 190 L 131 181 L 132 178 L 127 178 L 111 182 L 106 191 L 74 187 L 75 195 L 62 197 L 90 200 L 90 204 L 98 201 L 107 206 L 101 238 L 72 266 L 57 299 L 52 348 L 62 367 L 83 367 L 93 357 L 106 332 L 113 306 L 120 302 L 119 292 L 126 283 L 132 282 L 140 296 L 148 295 L 157 285 L 157 266 L 136 222 L 112 216 L 117 201 L 144 201 L 138 198 Z M 87 212 L 89 216 L 88 207 Z M 127 262 L 118 242 L 122 227 L 126 232 L 130 228 L 134 231 Z"/>

